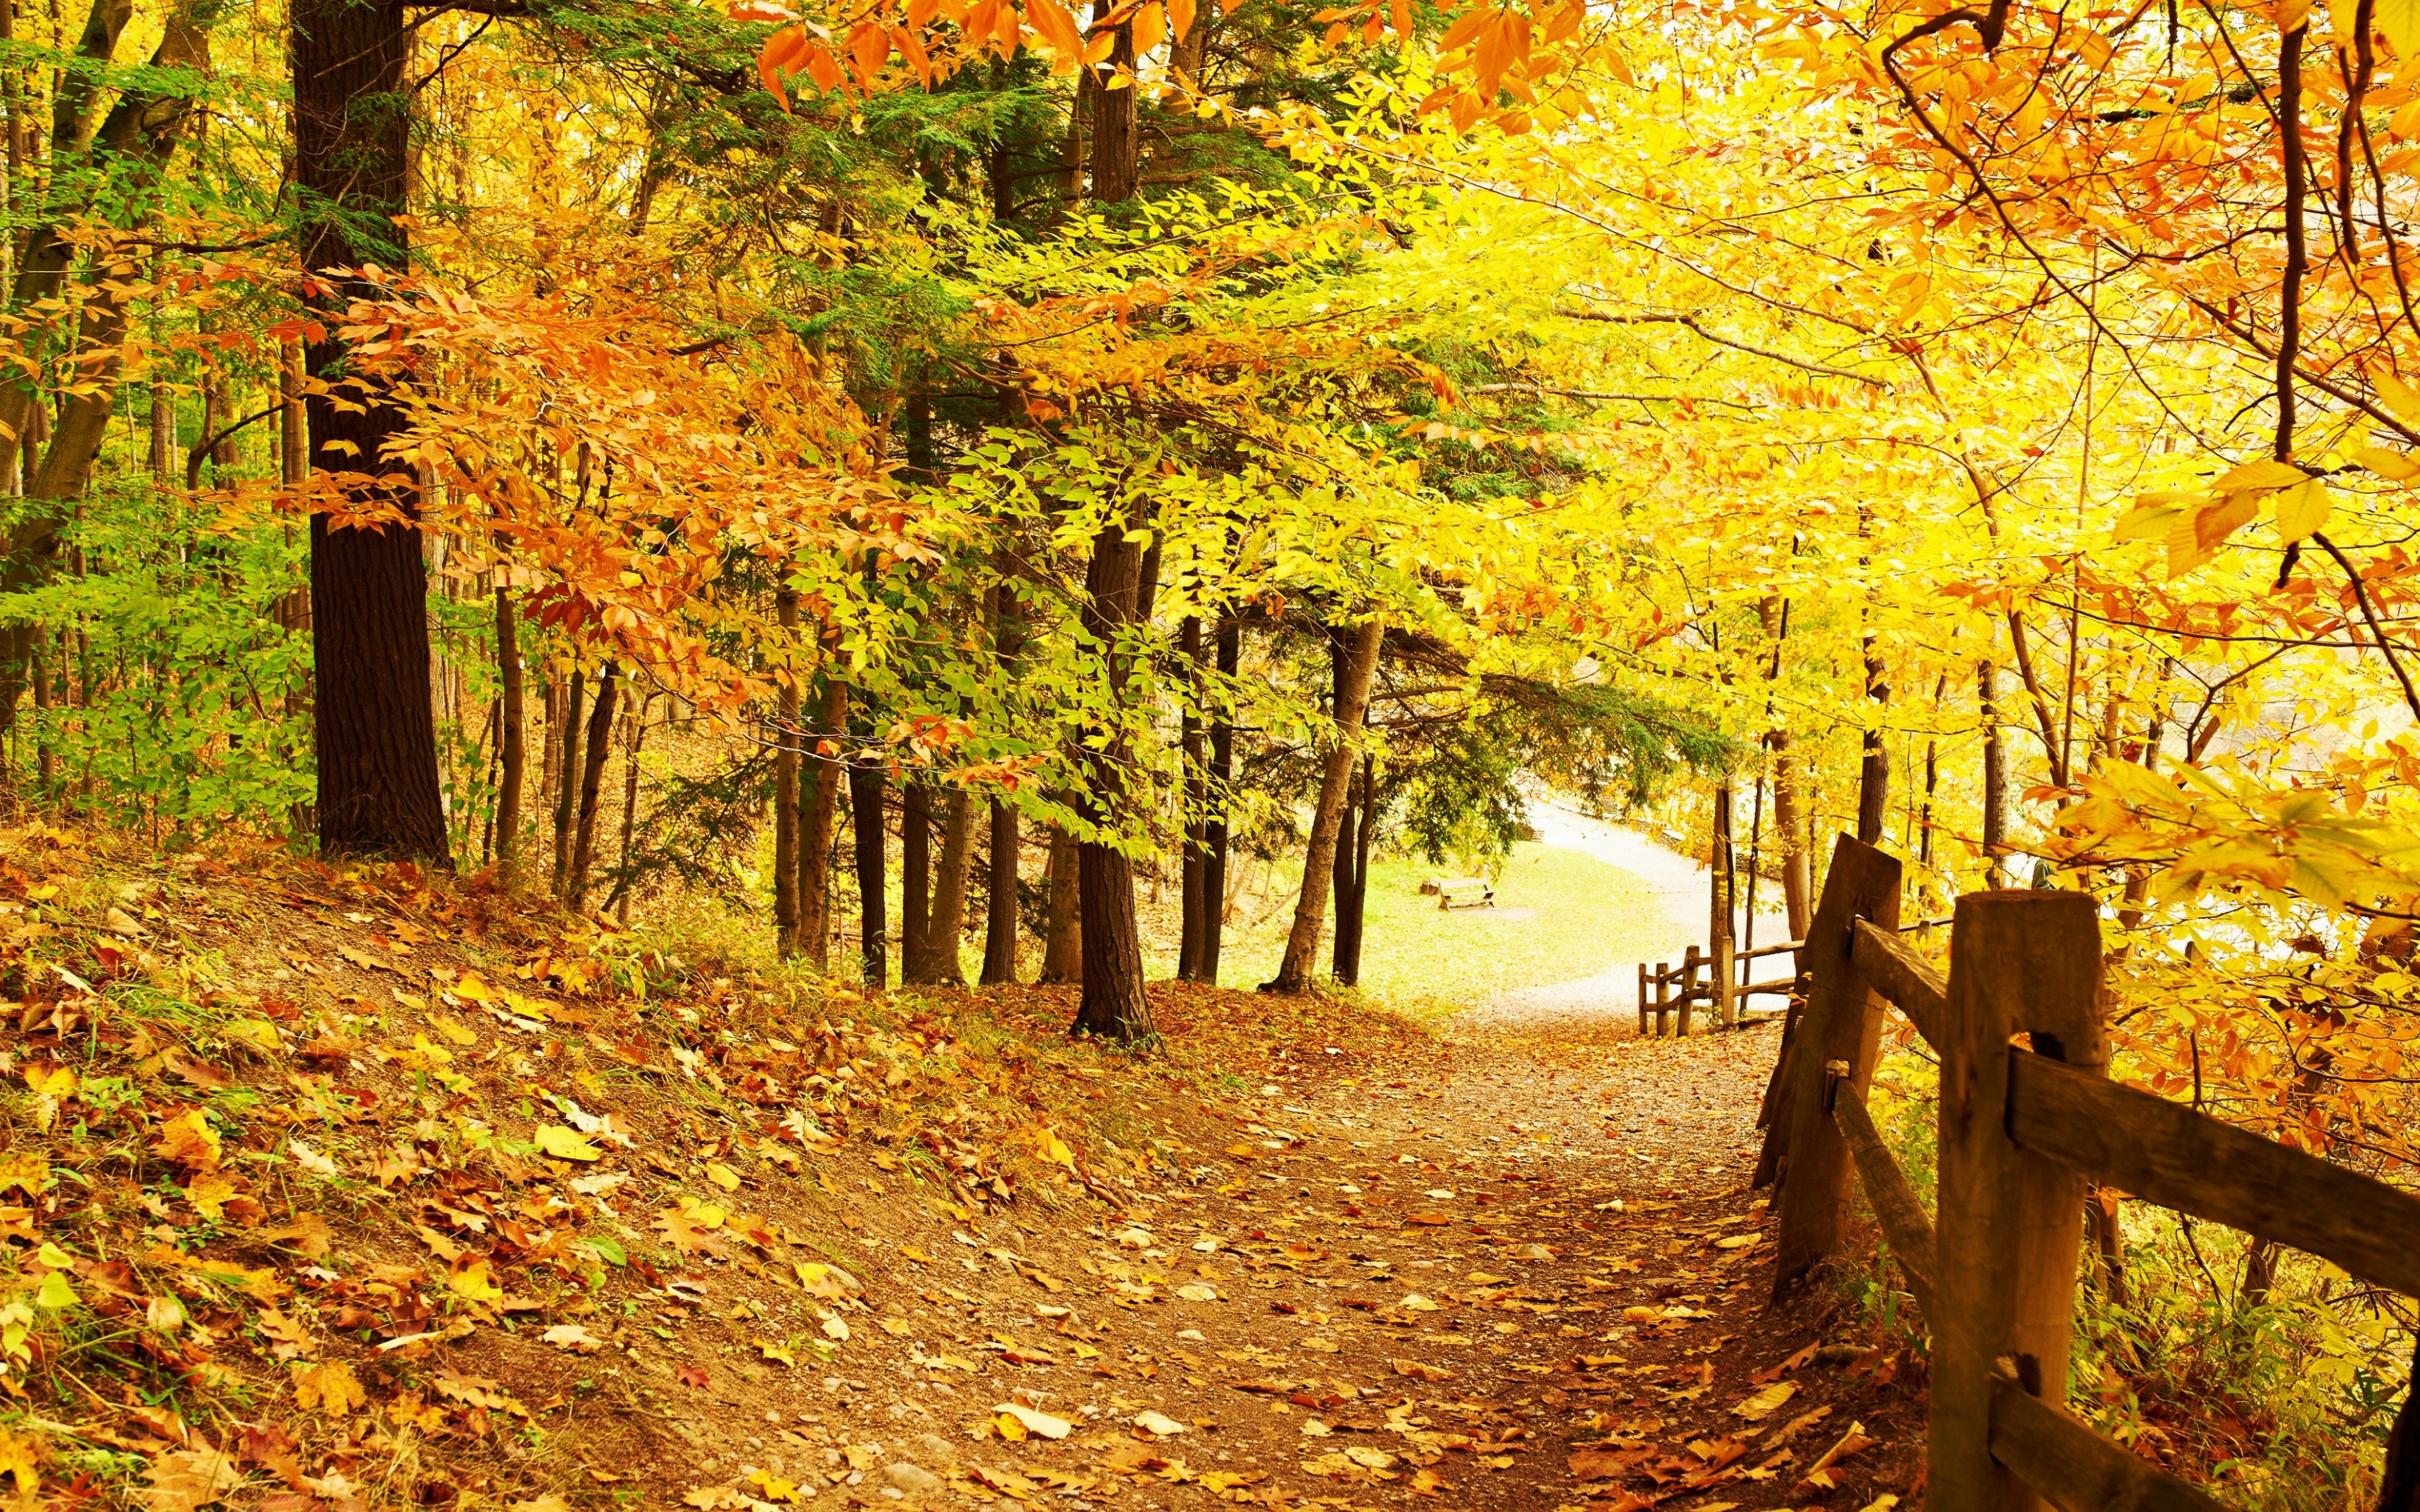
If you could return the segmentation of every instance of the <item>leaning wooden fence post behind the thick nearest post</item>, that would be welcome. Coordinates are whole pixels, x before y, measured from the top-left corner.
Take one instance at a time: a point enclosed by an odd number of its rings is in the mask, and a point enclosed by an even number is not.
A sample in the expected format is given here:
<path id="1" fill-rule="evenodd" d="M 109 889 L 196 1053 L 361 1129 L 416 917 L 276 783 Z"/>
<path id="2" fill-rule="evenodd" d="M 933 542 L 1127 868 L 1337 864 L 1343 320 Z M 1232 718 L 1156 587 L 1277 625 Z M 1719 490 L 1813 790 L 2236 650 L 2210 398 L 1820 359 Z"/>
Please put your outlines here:
<path id="1" fill-rule="evenodd" d="M 1822 900 L 1808 924 L 1805 960 L 1815 973 L 1808 1006 L 1781 1067 L 1781 1106 L 1771 1135 L 1784 1137 L 1781 1214 L 1774 1224 L 1774 1294 L 1796 1287 L 1839 1246 L 1849 1212 L 1849 1147 L 1825 1110 L 1825 1064 L 1849 1062 L 1849 1084 L 1863 1096 L 1883 1045 L 1883 999 L 1866 987 L 1849 958 L 1851 919 L 1900 927 L 1900 861 L 1851 835 L 1832 847 Z M 1938 1502 L 1958 1507 L 1958 1502 Z"/>

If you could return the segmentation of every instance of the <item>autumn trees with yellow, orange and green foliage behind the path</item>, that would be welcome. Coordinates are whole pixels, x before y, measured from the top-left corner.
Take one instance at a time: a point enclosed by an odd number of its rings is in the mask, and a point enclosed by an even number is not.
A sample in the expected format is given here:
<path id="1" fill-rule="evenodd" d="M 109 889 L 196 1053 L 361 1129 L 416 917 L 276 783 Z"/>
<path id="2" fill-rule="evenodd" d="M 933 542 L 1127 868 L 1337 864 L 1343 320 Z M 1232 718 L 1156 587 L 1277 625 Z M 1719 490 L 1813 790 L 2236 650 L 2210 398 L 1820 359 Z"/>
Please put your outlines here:
<path id="1" fill-rule="evenodd" d="M 1145 1038 L 1137 866 L 1350 982 L 1542 781 L 2088 888 L 2120 1074 L 2413 1173 L 2408 5 L 0 15 L 36 810 Z M 2193 1268 L 2384 1430 L 2398 1302 Z"/>

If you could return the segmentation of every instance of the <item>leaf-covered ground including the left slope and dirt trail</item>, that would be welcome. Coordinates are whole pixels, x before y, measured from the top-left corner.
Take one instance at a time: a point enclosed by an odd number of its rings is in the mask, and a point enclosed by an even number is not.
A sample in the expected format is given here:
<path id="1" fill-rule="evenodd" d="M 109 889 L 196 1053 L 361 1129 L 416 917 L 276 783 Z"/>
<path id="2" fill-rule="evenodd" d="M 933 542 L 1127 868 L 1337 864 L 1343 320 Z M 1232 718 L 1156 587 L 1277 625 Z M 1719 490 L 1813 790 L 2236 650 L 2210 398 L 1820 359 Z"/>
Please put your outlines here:
<path id="1" fill-rule="evenodd" d="M 1771 1028 L 1152 997 L 0 835 L 0 1497 L 1917 1500 L 1921 1364 L 1767 1306 Z"/>

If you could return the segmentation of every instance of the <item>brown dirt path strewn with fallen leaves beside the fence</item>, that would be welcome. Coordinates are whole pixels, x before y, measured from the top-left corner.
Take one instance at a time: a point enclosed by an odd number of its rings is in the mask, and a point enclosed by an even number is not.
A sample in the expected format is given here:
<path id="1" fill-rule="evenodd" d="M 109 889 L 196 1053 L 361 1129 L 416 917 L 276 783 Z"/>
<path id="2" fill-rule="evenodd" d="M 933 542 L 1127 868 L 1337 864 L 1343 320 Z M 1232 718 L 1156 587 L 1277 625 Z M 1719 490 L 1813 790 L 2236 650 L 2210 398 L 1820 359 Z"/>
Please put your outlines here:
<path id="1" fill-rule="evenodd" d="M 1193 1014 L 1249 1002 L 1169 992 Z M 1771 1048 L 1774 1031 L 1537 1043 L 1481 1023 L 1321 1045 L 1241 1096 L 1164 1103 L 1174 1181 L 1084 1231 L 893 1236 L 937 1265 L 876 1260 L 881 1326 L 859 1326 L 845 1374 L 806 1410 L 794 1391 L 733 1393 L 779 1425 L 678 1471 L 1002 1512 L 1050 1493 L 1193 1507 L 1205 1490 L 1876 1505 L 1907 1490 L 1912 1449 L 1876 1381 L 1888 1362 L 1827 1335 L 1822 1306 L 1764 1306 L 1764 1205 L 1745 1178 Z M 690 1328 L 728 1306 L 714 1294 Z M 1002 1406 L 1041 1432 L 1002 1439 L 1024 1427 Z M 1805 1485 L 1851 1422 L 1878 1442 L 1839 1461 L 1837 1488 Z"/>

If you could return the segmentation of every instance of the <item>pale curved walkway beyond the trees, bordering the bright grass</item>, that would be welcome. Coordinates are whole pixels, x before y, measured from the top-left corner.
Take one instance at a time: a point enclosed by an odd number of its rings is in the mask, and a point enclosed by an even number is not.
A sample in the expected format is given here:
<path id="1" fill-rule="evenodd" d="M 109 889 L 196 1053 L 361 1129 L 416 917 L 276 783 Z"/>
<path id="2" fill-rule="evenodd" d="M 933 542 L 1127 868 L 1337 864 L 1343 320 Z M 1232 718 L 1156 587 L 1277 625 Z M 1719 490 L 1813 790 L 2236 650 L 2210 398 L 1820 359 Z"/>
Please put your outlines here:
<path id="1" fill-rule="evenodd" d="M 1607 941 L 1614 960 L 1602 973 L 1573 982 L 1505 992 L 1462 1014 L 1462 1021 L 1474 1028 L 1515 1031 L 1578 1028 L 1607 1016 L 1636 1023 L 1638 965 L 1655 965 L 1658 960 L 1677 963 L 1692 943 L 1706 943 L 1711 907 L 1706 866 L 1648 839 L 1638 830 L 1592 820 L 1561 803 L 1532 798 L 1529 823 L 1537 827 L 1539 842 L 1583 852 L 1643 881 L 1663 905 L 1670 931 L 1650 941 Z M 1771 910 L 1764 907 L 1767 902 Z M 1771 946 L 1788 936 L 1788 919 L 1781 914 L 1781 883 L 1759 883 L 1757 943 Z M 1752 1002 L 1767 1009 L 1781 1004 L 1781 999 L 1767 997 Z"/>

